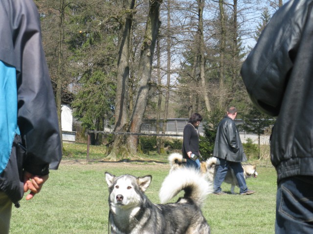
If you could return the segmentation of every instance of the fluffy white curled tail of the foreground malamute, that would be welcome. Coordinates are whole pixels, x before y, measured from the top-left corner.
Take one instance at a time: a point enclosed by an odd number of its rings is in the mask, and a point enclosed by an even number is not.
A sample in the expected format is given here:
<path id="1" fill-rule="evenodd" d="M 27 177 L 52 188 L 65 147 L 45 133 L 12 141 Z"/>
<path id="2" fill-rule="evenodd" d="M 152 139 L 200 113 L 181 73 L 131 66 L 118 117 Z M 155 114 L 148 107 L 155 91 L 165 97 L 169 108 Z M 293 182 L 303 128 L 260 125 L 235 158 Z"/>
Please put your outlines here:
<path id="1" fill-rule="evenodd" d="M 159 192 L 161 203 L 168 202 L 182 190 L 185 191 L 184 198 L 190 198 L 201 206 L 206 196 L 213 192 L 213 185 L 198 170 L 179 168 L 164 179 Z"/>

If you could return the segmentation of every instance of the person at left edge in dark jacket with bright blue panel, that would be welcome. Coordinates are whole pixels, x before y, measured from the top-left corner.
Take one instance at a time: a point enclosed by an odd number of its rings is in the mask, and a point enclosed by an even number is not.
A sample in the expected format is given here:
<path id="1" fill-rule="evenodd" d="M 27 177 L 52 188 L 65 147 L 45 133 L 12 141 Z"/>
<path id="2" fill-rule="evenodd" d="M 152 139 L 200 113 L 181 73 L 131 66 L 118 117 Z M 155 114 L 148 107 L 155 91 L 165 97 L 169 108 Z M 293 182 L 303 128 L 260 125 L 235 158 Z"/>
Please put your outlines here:
<path id="1" fill-rule="evenodd" d="M 32 0 L 0 1 L 0 233 L 12 204 L 40 192 L 62 157 L 58 117 Z"/>

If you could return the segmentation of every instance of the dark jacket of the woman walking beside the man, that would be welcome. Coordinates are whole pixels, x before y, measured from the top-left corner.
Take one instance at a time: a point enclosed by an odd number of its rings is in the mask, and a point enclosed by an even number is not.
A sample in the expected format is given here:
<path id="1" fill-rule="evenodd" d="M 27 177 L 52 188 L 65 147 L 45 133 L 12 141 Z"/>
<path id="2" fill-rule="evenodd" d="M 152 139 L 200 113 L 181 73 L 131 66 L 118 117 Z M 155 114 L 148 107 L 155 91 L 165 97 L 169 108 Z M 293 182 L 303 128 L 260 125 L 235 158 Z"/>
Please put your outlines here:
<path id="1" fill-rule="evenodd" d="M 182 156 L 188 158 L 187 152 L 200 156 L 199 134 L 191 124 L 186 124 L 183 131 Z"/>

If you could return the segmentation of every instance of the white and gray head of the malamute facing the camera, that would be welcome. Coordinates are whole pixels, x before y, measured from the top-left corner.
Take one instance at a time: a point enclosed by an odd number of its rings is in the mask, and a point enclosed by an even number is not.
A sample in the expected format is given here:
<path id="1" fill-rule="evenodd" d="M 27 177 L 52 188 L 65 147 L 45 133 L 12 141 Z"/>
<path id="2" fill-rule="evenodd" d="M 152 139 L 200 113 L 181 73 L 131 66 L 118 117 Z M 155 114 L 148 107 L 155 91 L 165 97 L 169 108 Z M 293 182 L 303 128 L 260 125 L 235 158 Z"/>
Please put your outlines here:
<path id="1" fill-rule="evenodd" d="M 115 177 L 106 173 L 106 181 L 109 186 L 109 200 L 113 207 L 130 209 L 141 202 L 143 193 L 151 182 L 151 176 L 134 177 L 123 175 Z"/>

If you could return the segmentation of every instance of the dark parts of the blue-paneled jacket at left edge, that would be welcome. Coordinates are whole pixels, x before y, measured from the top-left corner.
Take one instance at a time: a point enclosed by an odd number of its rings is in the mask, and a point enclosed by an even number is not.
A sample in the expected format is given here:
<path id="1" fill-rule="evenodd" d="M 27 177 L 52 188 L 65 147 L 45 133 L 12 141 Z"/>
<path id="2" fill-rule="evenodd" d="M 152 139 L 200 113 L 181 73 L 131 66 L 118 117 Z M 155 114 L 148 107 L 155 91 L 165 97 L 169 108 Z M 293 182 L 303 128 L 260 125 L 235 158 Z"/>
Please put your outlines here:
<path id="1" fill-rule="evenodd" d="M 49 169 L 58 168 L 62 149 L 37 7 L 32 0 L 1 0 L 0 22 L 0 60 L 16 69 L 17 119 L 8 121 L 19 127 L 0 175 L 0 191 L 18 204 L 23 170 L 48 174 Z M 0 133 L 0 139 L 5 137 Z"/>

